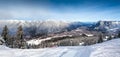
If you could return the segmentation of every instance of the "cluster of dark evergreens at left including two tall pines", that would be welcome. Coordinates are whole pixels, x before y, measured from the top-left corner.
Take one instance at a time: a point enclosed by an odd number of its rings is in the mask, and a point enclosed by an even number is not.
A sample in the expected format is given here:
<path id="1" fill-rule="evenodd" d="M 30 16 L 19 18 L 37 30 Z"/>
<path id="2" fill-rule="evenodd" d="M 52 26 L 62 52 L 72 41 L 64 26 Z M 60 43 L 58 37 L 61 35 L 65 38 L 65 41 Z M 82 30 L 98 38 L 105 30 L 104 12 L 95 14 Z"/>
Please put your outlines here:
<path id="1" fill-rule="evenodd" d="M 2 30 L 2 33 L 1 33 L 1 36 L 3 37 L 4 39 L 4 44 L 8 47 L 11 47 L 11 48 L 25 48 L 25 40 L 23 38 L 23 28 L 22 26 L 20 25 L 18 28 L 17 28 L 17 32 L 16 32 L 16 36 L 10 36 L 9 35 L 9 29 L 7 27 L 7 25 L 5 25 L 3 27 L 3 30 Z"/>

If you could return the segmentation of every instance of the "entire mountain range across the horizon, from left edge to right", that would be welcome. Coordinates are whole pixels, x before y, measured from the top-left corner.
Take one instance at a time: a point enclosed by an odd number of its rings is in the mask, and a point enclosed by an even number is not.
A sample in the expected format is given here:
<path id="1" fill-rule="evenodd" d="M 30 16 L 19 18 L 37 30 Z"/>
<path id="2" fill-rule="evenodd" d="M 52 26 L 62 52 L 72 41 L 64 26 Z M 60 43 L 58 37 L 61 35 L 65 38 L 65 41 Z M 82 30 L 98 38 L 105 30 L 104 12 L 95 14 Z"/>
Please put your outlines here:
<path id="1" fill-rule="evenodd" d="M 17 27 L 22 25 L 25 35 L 44 35 L 49 33 L 60 33 L 71 31 L 79 27 L 87 27 L 88 30 L 102 32 L 116 32 L 120 28 L 120 21 L 98 21 L 94 22 L 65 22 L 65 21 L 24 21 L 24 20 L 0 20 L 0 33 L 7 25 L 10 34 L 16 34 Z"/>

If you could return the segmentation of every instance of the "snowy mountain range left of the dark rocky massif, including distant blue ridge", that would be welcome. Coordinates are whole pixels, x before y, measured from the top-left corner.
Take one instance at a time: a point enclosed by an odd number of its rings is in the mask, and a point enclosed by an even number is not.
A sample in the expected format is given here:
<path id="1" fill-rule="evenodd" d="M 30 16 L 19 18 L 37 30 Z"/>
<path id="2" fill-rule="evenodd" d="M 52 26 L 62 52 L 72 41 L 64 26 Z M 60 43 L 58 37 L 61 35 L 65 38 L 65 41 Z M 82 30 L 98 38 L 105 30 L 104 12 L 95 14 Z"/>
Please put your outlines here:
<path id="1" fill-rule="evenodd" d="M 69 31 L 81 26 L 89 26 L 89 23 L 82 22 L 67 22 L 67 21 L 25 21 L 25 20 L 0 20 L 0 33 L 3 27 L 7 25 L 10 34 L 15 35 L 18 26 L 22 25 L 24 34 L 34 36 L 36 34 L 58 33 Z"/>

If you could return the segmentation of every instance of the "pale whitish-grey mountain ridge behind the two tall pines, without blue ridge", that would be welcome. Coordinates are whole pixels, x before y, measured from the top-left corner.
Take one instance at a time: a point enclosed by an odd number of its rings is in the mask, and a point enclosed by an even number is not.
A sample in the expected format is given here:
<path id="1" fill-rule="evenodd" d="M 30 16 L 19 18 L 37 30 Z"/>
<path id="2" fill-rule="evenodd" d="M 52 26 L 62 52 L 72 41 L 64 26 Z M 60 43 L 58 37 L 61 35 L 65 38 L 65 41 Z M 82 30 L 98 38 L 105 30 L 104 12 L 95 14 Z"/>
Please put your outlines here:
<path id="1" fill-rule="evenodd" d="M 22 25 L 24 32 L 31 33 L 51 33 L 59 32 L 68 27 L 69 22 L 63 21 L 24 21 L 24 20 L 0 20 L 0 32 L 7 25 L 10 33 L 15 34 L 17 27 Z"/>

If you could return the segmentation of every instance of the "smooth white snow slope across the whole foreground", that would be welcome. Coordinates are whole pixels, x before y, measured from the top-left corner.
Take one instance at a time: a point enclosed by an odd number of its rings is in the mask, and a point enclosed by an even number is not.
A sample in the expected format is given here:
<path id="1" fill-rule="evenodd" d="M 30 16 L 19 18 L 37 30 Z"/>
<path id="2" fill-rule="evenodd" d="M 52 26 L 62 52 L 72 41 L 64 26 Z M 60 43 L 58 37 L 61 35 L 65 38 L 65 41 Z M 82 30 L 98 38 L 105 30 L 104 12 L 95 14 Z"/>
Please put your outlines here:
<path id="1" fill-rule="evenodd" d="M 91 46 L 10 49 L 0 46 L 0 57 L 120 57 L 120 39 Z"/>

